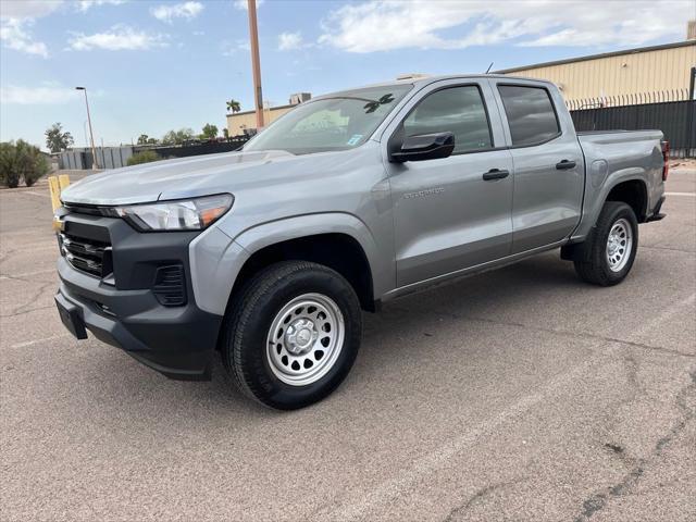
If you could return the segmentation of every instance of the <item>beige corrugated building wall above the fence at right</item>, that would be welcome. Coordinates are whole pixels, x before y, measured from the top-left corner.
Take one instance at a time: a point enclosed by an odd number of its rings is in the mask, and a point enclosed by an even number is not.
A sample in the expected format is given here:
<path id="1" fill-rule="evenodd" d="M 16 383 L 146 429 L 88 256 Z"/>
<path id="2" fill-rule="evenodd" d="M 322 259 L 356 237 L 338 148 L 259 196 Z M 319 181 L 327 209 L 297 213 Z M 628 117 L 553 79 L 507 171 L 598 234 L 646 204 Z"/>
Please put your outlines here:
<path id="1" fill-rule="evenodd" d="M 620 97 L 624 97 L 626 103 L 636 103 L 636 95 L 642 94 L 670 92 L 670 100 L 687 99 L 693 67 L 696 67 L 696 40 L 537 63 L 497 73 L 549 79 L 571 104 Z"/>

